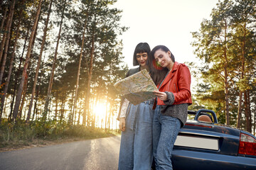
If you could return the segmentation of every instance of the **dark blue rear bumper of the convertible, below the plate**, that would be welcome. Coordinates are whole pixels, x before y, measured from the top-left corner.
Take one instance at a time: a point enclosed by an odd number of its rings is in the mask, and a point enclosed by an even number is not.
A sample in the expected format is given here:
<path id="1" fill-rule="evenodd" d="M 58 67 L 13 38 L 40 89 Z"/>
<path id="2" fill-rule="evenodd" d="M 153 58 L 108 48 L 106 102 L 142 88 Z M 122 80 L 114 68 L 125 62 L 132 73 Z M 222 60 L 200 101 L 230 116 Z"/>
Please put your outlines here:
<path id="1" fill-rule="evenodd" d="M 256 169 L 256 159 L 250 157 L 233 157 L 207 152 L 191 152 L 189 150 L 174 149 L 171 160 L 174 170 L 252 170 Z"/>

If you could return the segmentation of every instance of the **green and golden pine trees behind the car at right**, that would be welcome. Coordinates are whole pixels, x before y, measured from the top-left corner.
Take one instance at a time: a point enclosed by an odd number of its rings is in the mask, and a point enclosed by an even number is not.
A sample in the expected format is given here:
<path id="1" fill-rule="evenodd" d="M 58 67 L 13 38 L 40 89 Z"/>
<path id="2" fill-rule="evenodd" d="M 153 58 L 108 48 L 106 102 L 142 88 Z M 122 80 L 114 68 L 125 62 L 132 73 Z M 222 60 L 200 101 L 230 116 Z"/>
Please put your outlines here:
<path id="1" fill-rule="evenodd" d="M 255 2 L 219 1 L 210 14 L 211 18 L 204 19 L 200 30 L 192 33 L 192 45 L 201 60 L 198 72 L 192 72 L 198 79 L 196 107 L 213 109 L 218 113 L 220 123 L 235 126 L 238 107 L 245 114 L 245 98 L 239 96 L 240 91 L 250 94 L 247 98 L 251 106 L 249 112 L 256 110 L 252 90 L 256 68 Z M 240 106 L 239 100 L 242 100 Z"/>

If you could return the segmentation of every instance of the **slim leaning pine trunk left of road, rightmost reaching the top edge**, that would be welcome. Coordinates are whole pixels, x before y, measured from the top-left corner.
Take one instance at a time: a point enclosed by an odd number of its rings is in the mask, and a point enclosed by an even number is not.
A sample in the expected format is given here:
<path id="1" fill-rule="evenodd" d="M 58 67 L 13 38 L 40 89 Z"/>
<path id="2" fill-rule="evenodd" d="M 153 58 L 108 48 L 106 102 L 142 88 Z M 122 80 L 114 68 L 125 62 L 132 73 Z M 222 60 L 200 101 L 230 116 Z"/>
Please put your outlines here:
<path id="1" fill-rule="evenodd" d="M 59 42 L 60 42 L 60 34 L 61 34 L 61 29 L 62 29 L 62 24 L 63 24 L 65 7 L 66 7 L 66 1 L 64 2 L 63 11 L 61 13 L 60 29 L 59 29 L 59 33 L 58 33 L 57 44 L 56 44 L 56 47 L 55 47 L 53 66 L 52 66 L 52 70 L 51 70 L 51 73 L 50 73 L 50 81 L 49 81 L 48 91 L 47 91 L 47 96 L 46 96 L 46 104 L 45 104 L 45 108 L 44 108 L 44 112 L 43 112 L 43 121 L 46 120 L 47 113 L 48 113 L 50 93 L 51 93 L 51 89 L 52 89 L 52 86 L 53 86 L 53 77 L 54 77 L 54 72 L 55 72 L 55 64 L 56 64 L 56 60 L 57 60 L 58 45 L 59 45 Z"/>

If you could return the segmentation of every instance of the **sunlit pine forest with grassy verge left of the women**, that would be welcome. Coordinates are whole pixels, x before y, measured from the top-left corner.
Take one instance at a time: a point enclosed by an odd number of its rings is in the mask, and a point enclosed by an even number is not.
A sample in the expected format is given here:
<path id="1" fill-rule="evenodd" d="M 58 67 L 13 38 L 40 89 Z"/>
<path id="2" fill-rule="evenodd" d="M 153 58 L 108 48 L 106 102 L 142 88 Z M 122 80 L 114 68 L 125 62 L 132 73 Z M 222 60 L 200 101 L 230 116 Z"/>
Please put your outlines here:
<path id="1" fill-rule="evenodd" d="M 113 135 L 127 72 L 115 2 L 0 1 L 0 148 Z"/>

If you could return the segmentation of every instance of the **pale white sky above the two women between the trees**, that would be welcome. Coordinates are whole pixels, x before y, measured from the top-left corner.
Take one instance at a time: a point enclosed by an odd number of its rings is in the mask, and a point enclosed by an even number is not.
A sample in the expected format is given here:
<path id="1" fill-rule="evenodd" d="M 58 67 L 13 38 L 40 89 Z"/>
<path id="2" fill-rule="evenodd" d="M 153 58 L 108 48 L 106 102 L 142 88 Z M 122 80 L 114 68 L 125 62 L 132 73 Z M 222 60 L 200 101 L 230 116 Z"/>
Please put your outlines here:
<path id="1" fill-rule="evenodd" d="M 218 0 L 118 0 L 114 7 L 122 10 L 122 26 L 129 29 L 120 36 L 124 62 L 133 68 L 132 57 L 139 42 L 151 49 L 166 45 L 177 62 L 196 62 L 192 32 L 198 31 L 204 18 Z"/>

